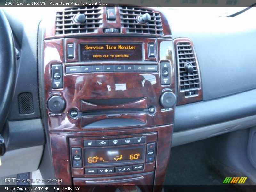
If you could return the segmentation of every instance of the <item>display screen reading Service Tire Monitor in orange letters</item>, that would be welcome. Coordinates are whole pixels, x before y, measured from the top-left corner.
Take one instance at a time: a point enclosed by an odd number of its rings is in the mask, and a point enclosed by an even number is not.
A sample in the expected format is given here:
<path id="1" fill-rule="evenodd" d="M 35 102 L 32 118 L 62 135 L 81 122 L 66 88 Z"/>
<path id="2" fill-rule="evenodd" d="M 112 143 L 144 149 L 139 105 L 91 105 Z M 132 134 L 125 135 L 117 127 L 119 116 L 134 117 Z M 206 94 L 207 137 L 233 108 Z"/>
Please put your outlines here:
<path id="1" fill-rule="evenodd" d="M 81 61 L 141 61 L 142 44 L 80 44 Z"/>

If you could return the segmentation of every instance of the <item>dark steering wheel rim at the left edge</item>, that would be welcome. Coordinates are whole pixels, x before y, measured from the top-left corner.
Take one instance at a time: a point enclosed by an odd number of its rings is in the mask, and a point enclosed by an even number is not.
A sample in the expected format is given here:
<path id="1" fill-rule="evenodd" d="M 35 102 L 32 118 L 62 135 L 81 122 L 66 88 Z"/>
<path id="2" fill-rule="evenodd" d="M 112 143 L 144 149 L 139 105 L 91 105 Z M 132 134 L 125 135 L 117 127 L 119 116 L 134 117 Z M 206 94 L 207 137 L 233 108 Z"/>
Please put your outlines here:
<path id="1" fill-rule="evenodd" d="M 12 30 L 3 12 L 0 10 L 0 132 L 7 118 L 14 91 L 15 47 Z"/>

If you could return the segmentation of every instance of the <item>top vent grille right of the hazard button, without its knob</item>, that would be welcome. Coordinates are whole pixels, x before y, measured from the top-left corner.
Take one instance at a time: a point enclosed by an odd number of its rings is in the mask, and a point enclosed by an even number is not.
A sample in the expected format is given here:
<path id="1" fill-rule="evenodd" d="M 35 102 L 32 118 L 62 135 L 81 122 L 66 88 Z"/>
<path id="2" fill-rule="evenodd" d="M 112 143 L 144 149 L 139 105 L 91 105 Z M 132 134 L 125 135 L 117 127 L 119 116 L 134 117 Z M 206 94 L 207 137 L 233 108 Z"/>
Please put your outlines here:
<path id="1" fill-rule="evenodd" d="M 120 7 L 119 9 L 121 27 L 126 28 L 127 33 L 163 35 L 160 13 L 139 7 Z M 151 16 L 151 21 L 141 24 L 137 21 L 137 17 L 145 13 Z"/>

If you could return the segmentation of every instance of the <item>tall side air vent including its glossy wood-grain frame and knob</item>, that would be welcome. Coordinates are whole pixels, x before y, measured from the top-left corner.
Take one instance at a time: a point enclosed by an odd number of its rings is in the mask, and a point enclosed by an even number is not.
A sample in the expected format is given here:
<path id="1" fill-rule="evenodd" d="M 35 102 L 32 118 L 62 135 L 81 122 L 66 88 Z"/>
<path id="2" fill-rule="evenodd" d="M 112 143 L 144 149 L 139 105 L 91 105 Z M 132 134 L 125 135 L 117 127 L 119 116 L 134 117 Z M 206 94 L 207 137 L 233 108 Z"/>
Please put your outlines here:
<path id="1" fill-rule="evenodd" d="M 198 61 L 190 39 L 174 40 L 178 67 L 178 102 L 185 104 L 202 100 L 202 84 Z"/>

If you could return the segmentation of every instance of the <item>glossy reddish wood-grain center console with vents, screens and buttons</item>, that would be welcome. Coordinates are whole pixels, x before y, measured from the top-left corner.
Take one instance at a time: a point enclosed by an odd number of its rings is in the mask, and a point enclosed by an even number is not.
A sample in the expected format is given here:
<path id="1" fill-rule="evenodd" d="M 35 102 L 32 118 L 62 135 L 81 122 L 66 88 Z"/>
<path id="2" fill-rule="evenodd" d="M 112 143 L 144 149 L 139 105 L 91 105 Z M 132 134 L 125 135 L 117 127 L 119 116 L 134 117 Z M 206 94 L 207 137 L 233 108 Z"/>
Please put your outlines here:
<path id="1" fill-rule="evenodd" d="M 66 8 L 44 20 L 42 39 L 47 137 L 59 185 L 161 191 L 176 104 L 164 15 L 121 5 Z"/>

